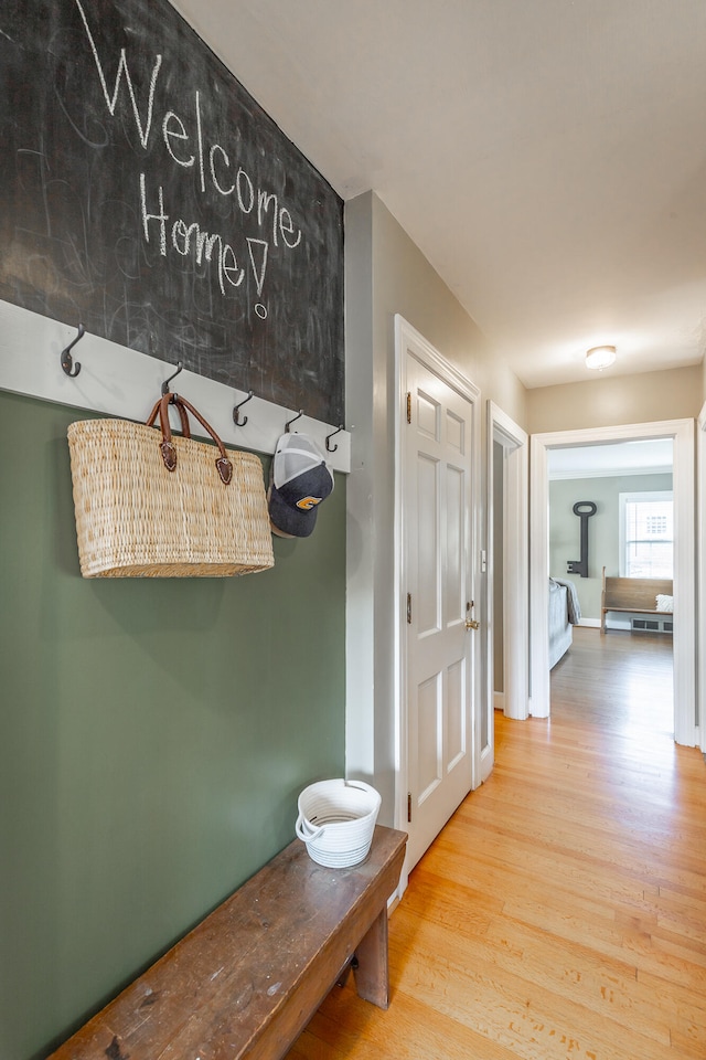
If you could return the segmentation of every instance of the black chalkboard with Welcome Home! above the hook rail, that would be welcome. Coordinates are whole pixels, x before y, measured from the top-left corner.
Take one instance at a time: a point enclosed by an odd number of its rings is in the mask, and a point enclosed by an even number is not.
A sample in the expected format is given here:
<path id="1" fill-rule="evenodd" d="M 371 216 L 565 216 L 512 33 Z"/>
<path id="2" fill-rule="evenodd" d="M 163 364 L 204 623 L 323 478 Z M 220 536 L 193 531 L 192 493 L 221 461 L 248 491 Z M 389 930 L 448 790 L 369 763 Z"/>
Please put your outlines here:
<path id="1" fill-rule="evenodd" d="M 0 298 L 343 421 L 342 202 L 167 0 L 3 0 L 0 124 Z"/>

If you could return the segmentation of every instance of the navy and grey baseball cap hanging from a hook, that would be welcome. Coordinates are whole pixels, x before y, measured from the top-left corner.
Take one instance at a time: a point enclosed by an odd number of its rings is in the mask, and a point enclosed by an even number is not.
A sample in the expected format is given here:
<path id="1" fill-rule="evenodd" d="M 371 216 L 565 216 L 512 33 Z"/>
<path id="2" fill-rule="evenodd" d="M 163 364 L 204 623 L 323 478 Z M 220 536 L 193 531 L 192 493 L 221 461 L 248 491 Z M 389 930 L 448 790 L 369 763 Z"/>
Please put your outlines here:
<path id="1" fill-rule="evenodd" d="M 308 538 L 319 505 L 333 489 L 333 474 L 317 444 L 306 434 L 282 434 L 268 491 L 269 521 L 280 537 Z"/>

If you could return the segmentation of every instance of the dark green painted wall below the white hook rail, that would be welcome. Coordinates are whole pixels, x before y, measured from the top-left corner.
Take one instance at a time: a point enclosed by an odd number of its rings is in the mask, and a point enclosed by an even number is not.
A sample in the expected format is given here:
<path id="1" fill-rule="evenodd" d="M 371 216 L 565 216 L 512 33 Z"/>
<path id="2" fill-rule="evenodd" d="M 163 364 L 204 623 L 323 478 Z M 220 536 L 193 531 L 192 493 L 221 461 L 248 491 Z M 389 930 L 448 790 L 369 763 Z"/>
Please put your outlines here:
<path id="1" fill-rule="evenodd" d="M 239 579 L 84 580 L 66 427 L 0 393 L 0 1058 L 39 1060 L 343 775 L 345 480 Z"/>

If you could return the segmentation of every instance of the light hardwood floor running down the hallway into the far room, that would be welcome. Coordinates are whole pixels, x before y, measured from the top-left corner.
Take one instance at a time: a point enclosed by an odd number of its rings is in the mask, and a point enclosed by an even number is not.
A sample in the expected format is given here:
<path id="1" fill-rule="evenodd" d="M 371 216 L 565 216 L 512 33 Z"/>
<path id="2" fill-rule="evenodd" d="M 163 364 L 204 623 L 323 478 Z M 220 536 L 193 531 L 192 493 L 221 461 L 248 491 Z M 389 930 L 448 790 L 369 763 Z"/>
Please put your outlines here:
<path id="1" fill-rule="evenodd" d="M 552 719 L 495 768 L 389 921 L 392 1005 L 329 996 L 288 1060 L 704 1060 L 706 765 L 671 644 L 578 628 Z"/>

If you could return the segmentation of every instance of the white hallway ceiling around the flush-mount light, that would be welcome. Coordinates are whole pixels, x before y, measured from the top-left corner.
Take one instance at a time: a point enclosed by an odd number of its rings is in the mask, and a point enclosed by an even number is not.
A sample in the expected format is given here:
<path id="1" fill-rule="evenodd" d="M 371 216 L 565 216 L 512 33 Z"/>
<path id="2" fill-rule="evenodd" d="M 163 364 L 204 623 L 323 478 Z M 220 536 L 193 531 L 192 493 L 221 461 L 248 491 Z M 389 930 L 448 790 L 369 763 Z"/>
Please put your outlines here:
<path id="1" fill-rule="evenodd" d="M 704 0 L 175 0 L 526 386 L 700 362 Z"/>

